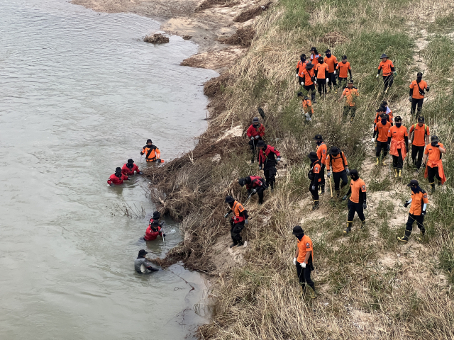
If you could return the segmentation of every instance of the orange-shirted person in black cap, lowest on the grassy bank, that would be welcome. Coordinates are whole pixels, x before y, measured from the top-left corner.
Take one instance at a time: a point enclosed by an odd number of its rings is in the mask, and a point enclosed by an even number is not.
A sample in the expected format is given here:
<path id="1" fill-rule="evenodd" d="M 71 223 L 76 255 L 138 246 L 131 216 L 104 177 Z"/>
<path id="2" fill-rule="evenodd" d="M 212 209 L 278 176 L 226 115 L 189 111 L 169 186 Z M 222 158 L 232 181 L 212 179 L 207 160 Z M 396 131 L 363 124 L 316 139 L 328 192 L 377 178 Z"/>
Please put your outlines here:
<path id="1" fill-rule="evenodd" d="M 301 294 L 304 295 L 306 293 L 306 285 L 309 285 L 312 288 L 310 297 L 314 299 L 318 293 L 315 290 L 314 281 L 311 280 L 311 271 L 314 270 L 314 248 L 312 246 L 312 240 L 304 234 L 303 228 L 299 225 L 293 227 L 292 234 L 298 239 L 293 265 L 297 266 Z"/>

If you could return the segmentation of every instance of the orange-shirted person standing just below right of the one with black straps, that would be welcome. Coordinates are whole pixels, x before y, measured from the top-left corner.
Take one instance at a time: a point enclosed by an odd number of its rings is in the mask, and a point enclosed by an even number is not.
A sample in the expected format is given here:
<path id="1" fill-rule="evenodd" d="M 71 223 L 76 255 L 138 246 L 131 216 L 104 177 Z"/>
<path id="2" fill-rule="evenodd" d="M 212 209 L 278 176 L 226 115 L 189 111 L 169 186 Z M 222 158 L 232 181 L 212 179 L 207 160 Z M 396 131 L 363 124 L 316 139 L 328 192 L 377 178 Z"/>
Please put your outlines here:
<path id="1" fill-rule="evenodd" d="M 348 234 L 352 231 L 353 217 L 355 217 L 355 212 L 358 214 L 361 220 L 361 229 L 366 224 L 366 217 L 364 217 L 364 210 L 367 209 L 366 202 L 366 183 L 360 179 L 358 171 L 353 169 L 350 171 L 350 189 L 348 189 L 347 195 L 343 196 L 342 200 L 346 200 L 347 196 L 350 195 L 348 199 L 348 215 L 347 215 L 347 229 L 343 231 L 344 234 Z"/>

